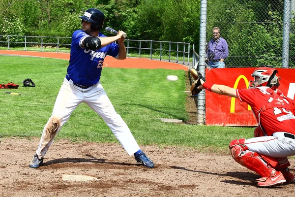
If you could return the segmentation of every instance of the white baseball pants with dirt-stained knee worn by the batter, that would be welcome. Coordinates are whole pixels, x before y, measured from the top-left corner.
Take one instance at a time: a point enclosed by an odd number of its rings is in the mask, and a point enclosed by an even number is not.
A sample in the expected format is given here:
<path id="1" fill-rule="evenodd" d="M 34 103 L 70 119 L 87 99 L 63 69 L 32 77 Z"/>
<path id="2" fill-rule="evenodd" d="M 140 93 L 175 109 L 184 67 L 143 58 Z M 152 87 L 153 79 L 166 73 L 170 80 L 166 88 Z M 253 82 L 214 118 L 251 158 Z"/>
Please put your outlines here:
<path id="1" fill-rule="evenodd" d="M 36 150 L 39 158 L 45 156 L 61 126 L 69 120 L 73 110 L 82 102 L 103 118 L 130 156 L 140 149 L 128 126 L 115 111 L 100 82 L 88 89 L 82 89 L 75 86 L 72 80 L 64 78 L 52 115 L 44 127 Z"/>

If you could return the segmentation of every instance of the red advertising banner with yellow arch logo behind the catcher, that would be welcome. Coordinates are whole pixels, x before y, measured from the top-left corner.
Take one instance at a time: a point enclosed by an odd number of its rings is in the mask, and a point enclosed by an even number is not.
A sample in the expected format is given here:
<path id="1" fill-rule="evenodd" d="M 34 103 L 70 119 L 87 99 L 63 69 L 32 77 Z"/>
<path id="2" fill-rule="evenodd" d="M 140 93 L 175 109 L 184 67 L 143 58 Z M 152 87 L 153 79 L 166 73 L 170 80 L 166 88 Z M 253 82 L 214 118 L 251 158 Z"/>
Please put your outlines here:
<path id="1" fill-rule="evenodd" d="M 213 68 L 206 69 L 206 80 L 213 84 L 232 88 L 248 88 L 253 81 L 256 68 Z M 295 69 L 277 68 L 281 76 L 280 89 L 285 96 L 294 99 Z M 206 91 L 206 125 L 257 126 L 251 108 L 239 99 Z"/>

